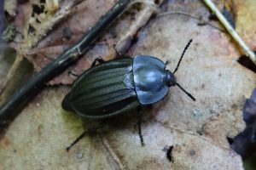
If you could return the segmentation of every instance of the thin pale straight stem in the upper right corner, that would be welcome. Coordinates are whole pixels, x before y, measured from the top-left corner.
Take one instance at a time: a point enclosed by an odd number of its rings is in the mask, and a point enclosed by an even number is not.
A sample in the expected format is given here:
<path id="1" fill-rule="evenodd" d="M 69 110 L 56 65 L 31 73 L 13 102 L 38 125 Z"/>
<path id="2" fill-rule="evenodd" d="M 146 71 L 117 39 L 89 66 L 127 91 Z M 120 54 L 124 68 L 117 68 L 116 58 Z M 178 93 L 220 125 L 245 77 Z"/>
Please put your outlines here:
<path id="1" fill-rule="evenodd" d="M 211 0 L 203 0 L 204 3 L 207 4 L 209 8 L 211 8 L 212 12 L 217 16 L 218 20 L 223 24 L 223 26 L 226 28 L 226 30 L 230 33 L 230 36 L 234 38 L 234 40 L 239 44 L 239 46 L 245 51 L 247 56 L 253 61 L 253 63 L 256 65 L 256 56 L 253 53 L 253 51 L 248 48 L 247 44 L 242 41 L 241 37 L 237 34 L 237 32 L 230 26 L 230 23 L 228 20 L 224 18 L 224 15 L 221 14 L 218 10 L 218 8 L 212 3 Z"/>

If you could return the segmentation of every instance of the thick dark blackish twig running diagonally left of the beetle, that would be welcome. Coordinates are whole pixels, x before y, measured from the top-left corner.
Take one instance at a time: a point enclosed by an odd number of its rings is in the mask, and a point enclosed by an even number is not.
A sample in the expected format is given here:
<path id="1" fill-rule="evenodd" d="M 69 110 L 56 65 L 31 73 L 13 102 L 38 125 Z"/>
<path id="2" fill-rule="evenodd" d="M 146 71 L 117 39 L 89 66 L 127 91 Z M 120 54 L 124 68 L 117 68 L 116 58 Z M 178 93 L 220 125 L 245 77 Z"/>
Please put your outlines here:
<path id="1" fill-rule="evenodd" d="M 95 41 L 96 37 L 100 35 L 104 28 L 125 10 L 128 3 L 130 3 L 129 0 L 119 0 L 115 3 L 113 8 L 111 8 L 107 14 L 102 16 L 96 25 L 84 34 L 79 42 L 75 43 L 73 47 L 68 48 L 63 54 L 58 56 L 55 60 L 49 63 L 49 65 L 44 67 L 44 69 L 39 71 L 38 74 L 32 77 L 25 86 L 21 87 L 11 99 L 9 99 L 9 102 L 1 108 L 1 122 L 4 123 L 4 119 L 10 116 L 11 113 L 24 107 L 35 94 L 38 94 L 41 88 L 44 88 L 46 82 L 59 75 L 62 71 L 67 69 L 69 65 L 73 64 L 81 54 L 84 54 L 90 43 Z"/>

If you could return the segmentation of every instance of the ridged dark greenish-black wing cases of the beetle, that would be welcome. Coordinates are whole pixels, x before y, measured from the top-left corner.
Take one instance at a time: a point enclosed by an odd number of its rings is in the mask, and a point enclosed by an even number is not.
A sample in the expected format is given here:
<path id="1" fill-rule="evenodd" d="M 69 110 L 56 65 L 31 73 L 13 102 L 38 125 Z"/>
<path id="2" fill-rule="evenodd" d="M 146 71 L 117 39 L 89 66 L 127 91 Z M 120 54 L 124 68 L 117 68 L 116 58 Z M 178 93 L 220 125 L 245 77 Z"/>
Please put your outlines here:
<path id="1" fill-rule="evenodd" d="M 73 83 L 62 108 L 80 116 L 104 118 L 136 108 L 133 59 L 113 59 L 90 68 Z"/>

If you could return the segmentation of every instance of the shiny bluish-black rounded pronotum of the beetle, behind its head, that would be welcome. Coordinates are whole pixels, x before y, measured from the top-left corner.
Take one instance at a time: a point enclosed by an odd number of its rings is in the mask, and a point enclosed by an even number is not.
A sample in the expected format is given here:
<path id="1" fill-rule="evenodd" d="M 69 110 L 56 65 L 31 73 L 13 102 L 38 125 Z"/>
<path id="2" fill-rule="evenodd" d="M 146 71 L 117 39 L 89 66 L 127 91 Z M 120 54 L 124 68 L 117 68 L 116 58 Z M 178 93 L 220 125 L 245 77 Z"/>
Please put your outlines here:
<path id="1" fill-rule="evenodd" d="M 135 91 L 141 105 L 163 99 L 169 92 L 166 64 L 152 56 L 137 55 L 133 59 Z M 172 73 L 171 73 L 172 74 Z"/>

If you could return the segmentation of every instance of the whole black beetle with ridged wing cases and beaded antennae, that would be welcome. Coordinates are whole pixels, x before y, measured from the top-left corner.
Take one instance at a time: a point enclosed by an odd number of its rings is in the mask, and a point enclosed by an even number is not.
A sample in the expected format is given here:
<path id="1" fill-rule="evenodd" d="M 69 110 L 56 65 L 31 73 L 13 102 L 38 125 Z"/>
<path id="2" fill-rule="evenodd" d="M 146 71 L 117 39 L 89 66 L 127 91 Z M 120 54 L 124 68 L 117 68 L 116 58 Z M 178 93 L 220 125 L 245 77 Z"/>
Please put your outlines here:
<path id="1" fill-rule="evenodd" d="M 192 40 L 184 48 L 173 72 L 166 70 L 168 62 L 164 63 L 148 55 L 109 61 L 104 61 L 101 57 L 95 59 L 90 69 L 84 71 L 73 83 L 70 92 L 62 101 L 62 108 L 91 119 L 104 119 L 137 108 L 139 136 L 144 144 L 141 131 L 141 105 L 152 105 L 160 101 L 168 94 L 169 88 L 175 85 L 195 100 L 177 83 L 174 76 L 191 42 Z M 96 62 L 99 64 L 96 65 Z M 84 133 L 79 139 L 82 136 Z"/>

